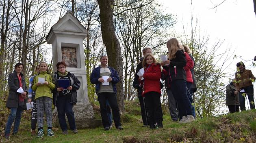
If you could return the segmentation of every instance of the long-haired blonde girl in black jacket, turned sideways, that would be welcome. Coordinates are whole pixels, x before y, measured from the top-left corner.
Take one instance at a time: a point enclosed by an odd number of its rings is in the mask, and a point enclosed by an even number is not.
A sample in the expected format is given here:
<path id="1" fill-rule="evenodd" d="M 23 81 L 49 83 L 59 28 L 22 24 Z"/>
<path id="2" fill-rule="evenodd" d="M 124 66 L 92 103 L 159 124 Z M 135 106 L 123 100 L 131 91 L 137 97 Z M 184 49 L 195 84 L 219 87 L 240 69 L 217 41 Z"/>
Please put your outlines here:
<path id="1" fill-rule="evenodd" d="M 171 92 L 178 103 L 179 112 L 183 113 L 180 123 L 192 122 L 195 120 L 191 107 L 191 102 L 187 96 L 187 77 L 184 66 L 187 64 L 186 56 L 183 52 L 180 43 L 176 38 L 171 38 L 167 41 L 169 51 L 169 60 L 164 64 L 169 64 L 166 69 L 169 73 Z"/>

